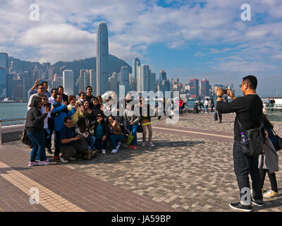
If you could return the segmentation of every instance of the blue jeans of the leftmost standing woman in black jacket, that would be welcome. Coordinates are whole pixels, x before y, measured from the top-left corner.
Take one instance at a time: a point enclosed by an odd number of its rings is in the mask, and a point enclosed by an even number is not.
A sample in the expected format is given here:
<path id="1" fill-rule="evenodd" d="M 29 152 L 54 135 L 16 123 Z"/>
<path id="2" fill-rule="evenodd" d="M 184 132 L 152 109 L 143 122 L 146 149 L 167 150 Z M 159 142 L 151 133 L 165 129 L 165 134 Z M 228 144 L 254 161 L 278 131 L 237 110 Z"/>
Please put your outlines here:
<path id="1" fill-rule="evenodd" d="M 33 147 L 30 153 L 30 162 L 35 162 L 36 157 L 40 161 L 46 160 L 44 130 L 35 133 L 27 132 L 27 136 L 30 138 Z"/>

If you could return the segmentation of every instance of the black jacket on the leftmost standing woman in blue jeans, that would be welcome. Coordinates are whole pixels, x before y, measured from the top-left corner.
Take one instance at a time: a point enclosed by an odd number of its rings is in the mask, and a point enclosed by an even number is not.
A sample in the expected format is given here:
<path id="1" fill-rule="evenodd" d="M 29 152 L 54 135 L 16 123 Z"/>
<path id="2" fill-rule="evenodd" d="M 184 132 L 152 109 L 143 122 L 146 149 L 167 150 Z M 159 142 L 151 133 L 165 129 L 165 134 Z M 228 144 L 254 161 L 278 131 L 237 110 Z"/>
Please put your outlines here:
<path id="1" fill-rule="evenodd" d="M 27 112 L 25 121 L 25 130 L 30 133 L 42 131 L 44 128 L 44 119 L 47 114 L 42 114 L 38 107 L 32 107 Z"/>

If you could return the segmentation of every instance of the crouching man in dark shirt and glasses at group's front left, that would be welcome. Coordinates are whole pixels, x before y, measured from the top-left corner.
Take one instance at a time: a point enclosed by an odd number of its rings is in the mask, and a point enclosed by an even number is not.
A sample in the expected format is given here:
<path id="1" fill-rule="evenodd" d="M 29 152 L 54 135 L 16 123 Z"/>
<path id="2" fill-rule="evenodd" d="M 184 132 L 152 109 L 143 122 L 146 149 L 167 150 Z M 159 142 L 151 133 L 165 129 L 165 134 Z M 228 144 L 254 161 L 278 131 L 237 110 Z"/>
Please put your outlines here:
<path id="1" fill-rule="evenodd" d="M 75 160 L 75 156 L 78 155 L 78 151 L 74 148 L 73 141 L 77 141 L 82 136 L 75 136 L 75 132 L 72 129 L 73 120 L 71 120 L 71 117 L 63 119 L 63 124 L 63 129 L 61 129 L 59 133 L 59 148 L 61 151 L 60 160 L 66 163 L 68 160 Z"/>

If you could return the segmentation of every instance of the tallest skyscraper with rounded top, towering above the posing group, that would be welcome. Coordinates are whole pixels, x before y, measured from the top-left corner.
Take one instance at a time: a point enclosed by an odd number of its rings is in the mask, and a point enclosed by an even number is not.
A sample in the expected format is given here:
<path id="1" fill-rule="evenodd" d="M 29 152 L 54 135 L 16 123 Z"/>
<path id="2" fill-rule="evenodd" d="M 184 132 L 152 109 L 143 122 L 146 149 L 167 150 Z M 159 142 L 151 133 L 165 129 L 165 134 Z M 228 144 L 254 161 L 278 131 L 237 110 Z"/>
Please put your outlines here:
<path id="1" fill-rule="evenodd" d="M 101 22 L 97 29 L 97 95 L 102 95 L 109 90 L 109 42 L 106 22 Z"/>

